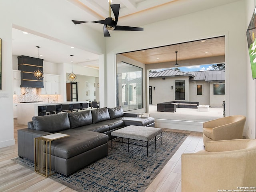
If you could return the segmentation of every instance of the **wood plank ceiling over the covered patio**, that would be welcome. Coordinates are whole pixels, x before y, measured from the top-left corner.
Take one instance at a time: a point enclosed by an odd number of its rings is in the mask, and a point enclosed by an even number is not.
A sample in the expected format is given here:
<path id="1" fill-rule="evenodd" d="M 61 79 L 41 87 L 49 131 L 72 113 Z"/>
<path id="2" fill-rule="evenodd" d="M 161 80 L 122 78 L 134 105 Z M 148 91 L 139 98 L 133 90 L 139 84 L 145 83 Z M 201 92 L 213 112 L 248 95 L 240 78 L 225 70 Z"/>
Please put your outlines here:
<path id="1" fill-rule="evenodd" d="M 132 58 L 144 64 L 176 62 L 177 60 L 191 60 L 225 55 L 225 37 L 209 38 L 182 44 L 162 46 L 134 52 L 122 53 L 123 56 Z"/>

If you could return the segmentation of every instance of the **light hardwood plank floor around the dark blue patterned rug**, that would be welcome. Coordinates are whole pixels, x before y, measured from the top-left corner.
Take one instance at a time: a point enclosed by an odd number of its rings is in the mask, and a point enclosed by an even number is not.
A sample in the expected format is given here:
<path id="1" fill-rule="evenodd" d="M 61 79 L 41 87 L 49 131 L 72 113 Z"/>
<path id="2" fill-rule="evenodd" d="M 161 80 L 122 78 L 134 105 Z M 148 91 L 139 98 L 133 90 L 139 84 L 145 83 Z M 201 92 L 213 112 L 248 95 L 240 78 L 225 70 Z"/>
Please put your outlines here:
<path id="1" fill-rule="evenodd" d="M 58 182 L 45 178 L 34 171 L 16 164 L 11 159 L 18 156 L 17 130 L 26 128 L 14 119 L 14 138 L 16 144 L 0 148 L 0 191 L 1 192 L 74 192 Z M 202 133 L 183 130 L 164 129 L 165 131 L 185 132 L 190 135 L 158 176 L 146 189 L 146 192 L 181 192 L 181 154 L 194 153 L 204 149 Z"/>

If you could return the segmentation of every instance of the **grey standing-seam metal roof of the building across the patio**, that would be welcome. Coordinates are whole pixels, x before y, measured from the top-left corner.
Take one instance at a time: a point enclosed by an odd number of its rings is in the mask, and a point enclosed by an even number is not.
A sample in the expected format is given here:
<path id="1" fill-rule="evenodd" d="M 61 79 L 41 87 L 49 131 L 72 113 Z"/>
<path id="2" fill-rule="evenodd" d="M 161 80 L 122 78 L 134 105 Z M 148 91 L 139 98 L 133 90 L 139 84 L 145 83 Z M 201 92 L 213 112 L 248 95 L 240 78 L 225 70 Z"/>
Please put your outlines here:
<path id="1" fill-rule="evenodd" d="M 220 81 L 225 80 L 225 71 L 223 70 L 209 70 L 196 72 L 182 72 L 174 69 L 168 69 L 160 72 L 150 72 L 149 78 L 154 77 L 170 77 L 170 76 L 190 76 L 190 80 L 205 80 L 205 81 Z"/>

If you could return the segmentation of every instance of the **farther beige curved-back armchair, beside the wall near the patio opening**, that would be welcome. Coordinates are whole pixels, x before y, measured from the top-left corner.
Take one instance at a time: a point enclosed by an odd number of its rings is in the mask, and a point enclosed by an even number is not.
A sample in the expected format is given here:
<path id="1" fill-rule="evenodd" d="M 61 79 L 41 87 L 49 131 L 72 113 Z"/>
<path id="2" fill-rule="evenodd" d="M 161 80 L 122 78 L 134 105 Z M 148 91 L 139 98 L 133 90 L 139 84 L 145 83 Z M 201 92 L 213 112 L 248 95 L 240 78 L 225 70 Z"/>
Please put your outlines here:
<path id="1" fill-rule="evenodd" d="M 204 122 L 204 145 L 208 141 L 242 139 L 245 121 L 245 116 L 234 115 Z"/>

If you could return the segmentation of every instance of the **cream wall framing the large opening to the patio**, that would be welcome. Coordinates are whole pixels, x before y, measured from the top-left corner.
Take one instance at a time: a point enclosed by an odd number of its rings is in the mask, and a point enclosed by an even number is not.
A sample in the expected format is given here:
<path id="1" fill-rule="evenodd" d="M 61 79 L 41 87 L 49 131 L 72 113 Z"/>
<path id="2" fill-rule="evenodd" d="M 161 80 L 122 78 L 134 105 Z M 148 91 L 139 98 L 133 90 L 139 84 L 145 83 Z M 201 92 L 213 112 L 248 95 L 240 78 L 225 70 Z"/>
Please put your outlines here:
<path id="1" fill-rule="evenodd" d="M 177 18 L 165 20 L 144 26 L 144 32 L 116 32 L 106 39 L 106 85 L 116 84 L 115 79 L 115 54 L 142 50 L 169 44 L 177 44 L 192 40 L 204 39 L 215 36 L 225 36 L 225 64 L 226 64 L 226 115 L 247 115 L 246 82 L 248 82 L 248 49 L 246 50 L 247 16 L 246 3 L 251 1 L 238 1 L 232 4 L 195 12 Z M 251 13 L 254 6 L 252 5 Z M 247 22 L 249 23 L 249 21 Z M 125 37 L 125 38 L 124 38 Z M 122 43 L 120 43 L 122 42 Z M 248 61 L 248 62 L 246 62 Z M 238 78 L 239 77 L 239 78 Z M 255 85 L 254 85 L 255 86 Z M 255 91 L 255 88 L 252 88 Z M 239 90 L 239 91 L 238 91 Z M 107 92 L 107 105 L 115 106 L 115 93 Z M 253 115 L 255 119 L 255 97 L 253 101 Z M 251 109 L 252 110 L 252 109 Z M 249 120 L 251 121 L 251 120 Z M 250 123 L 255 137 L 255 121 Z"/>

